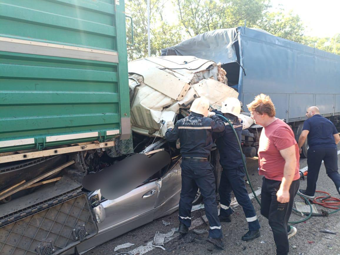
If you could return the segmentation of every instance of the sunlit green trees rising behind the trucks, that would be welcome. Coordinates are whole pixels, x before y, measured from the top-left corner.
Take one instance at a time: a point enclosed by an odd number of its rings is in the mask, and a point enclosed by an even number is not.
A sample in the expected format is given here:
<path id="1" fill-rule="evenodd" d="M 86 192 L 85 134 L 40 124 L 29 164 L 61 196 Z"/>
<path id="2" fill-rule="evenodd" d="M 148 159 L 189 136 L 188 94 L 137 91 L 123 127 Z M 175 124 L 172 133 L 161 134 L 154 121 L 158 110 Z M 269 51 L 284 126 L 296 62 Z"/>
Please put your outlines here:
<path id="1" fill-rule="evenodd" d="M 150 0 L 151 55 L 195 35 L 221 28 L 243 26 L 340 55 L 340 35 L 333 38 L 305 36 L 299 15 L 280 9 L 270 12 L 270 0 Z M 172 1 L 179 24 L 164 20 L 165 4 Z M 147 56 L 147 0 L 128 0 L 126 10 L 134 20 L 135 45 L 128 47 L 129 60 Z M 128 23 L 128 22 L 127 22 Z M 131 28 L 127 24 L 127 35 Z M 131 36 L 128 41 L 131 42 Z"/>

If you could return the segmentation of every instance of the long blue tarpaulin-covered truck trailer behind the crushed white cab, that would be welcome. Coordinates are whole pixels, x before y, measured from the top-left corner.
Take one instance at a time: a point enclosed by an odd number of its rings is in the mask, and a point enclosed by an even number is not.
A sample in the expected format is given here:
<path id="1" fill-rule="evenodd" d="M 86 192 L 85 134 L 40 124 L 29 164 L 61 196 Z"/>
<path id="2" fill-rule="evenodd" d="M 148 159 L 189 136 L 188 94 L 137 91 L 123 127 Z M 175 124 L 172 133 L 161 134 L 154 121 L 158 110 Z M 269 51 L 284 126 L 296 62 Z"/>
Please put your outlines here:
<path id="1" fill-rule="evenodd" d="M 243 109 L 259 93 L 269 95 L 276 117 L 291 125 L 296 139 L 309 106 L 340 127 L 340 56 L 289 41 L 259 29 L 238 27 L 197 35 L 162 50 L 221 62 L 228 85 L 239 92 Z M 244 132 L 244 152 L 258 145 L 258 130 Z M 248 134 L 248 135 L 247 135 Z M 250 136 L 249 136 L 250 135 Z M 302 156 L 307 156 L 307 141 Z M 251 153 L 250 153 L 251 154 Z"/>

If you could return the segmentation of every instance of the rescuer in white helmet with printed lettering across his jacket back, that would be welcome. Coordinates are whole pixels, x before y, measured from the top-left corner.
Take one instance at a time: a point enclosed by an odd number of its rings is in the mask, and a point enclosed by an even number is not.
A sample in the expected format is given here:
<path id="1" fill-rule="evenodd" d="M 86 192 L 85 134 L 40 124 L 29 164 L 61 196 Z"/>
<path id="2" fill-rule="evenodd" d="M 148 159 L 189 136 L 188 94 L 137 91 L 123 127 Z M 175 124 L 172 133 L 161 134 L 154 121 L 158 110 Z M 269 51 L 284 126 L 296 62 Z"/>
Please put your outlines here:
<path id="1" fill-rule="evenodd" d="M 205 214 L 210 229 L 207 241 L 224 249 L 223 233 L 218 219 L 215 194 L 215 176 L 208 157 L 212 148 L 212 132 L 224 131 L 224 123 L 209 112 L 207 98 L 199 97 L 190 108 L 190 115 L 173 125 L 167 122 L 165 139 L 180 140 L 182 154 L 182 191 L 179 204 L 179 229 L 181 234 L 188 233 L 191 225 L 192 202 L 198 188 L 203 196 Z"/>

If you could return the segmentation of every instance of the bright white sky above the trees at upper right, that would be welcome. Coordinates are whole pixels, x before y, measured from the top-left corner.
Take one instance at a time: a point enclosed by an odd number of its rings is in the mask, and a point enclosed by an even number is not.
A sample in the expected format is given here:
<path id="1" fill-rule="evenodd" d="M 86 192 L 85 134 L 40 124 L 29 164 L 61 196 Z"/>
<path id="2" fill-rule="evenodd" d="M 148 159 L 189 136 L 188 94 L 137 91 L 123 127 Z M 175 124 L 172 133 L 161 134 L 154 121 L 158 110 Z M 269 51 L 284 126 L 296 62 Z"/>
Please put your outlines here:
<path id="1" fill-rule="evenodd" d="M 340 0 L 271 0 L 273 8 L 282 4 L 307 26 L 306 35 L 333 37 L 340 33 Z"/>

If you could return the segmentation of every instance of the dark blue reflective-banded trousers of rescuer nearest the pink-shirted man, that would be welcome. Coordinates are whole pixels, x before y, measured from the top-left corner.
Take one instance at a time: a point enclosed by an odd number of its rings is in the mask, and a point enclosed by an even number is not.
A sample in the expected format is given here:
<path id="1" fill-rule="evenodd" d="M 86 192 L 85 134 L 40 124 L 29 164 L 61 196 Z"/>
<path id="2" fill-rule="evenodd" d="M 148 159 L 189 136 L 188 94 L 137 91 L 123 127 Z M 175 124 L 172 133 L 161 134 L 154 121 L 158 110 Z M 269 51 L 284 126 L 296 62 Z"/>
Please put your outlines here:
<path id="1" fill-rule="evenodd" d="M 224 169 L 222 170 L 220 187 L 218 193 L 220 194 L 220 215 L 228 216 L 233 213 L 230 208 L 231 192 L 233 190 L 237 202 L 242 206 L 245 218 L 248 222 L 249 230 L 260 229 L 256 212 L 250 198 L 248 191 L 244 184 L 245 172 L 243 167 L 237 169 Z"/>

